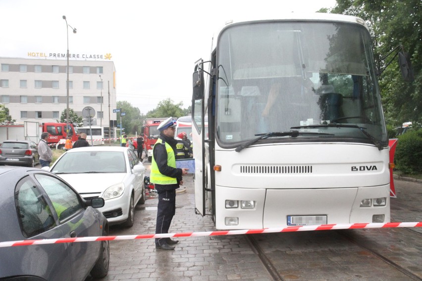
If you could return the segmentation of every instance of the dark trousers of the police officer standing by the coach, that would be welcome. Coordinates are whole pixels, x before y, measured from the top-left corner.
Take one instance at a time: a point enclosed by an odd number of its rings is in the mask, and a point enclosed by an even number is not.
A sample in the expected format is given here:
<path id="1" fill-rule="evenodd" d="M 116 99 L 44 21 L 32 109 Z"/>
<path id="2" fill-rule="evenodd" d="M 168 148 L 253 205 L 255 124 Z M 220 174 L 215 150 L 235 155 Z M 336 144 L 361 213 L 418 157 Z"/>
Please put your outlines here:
<path id="1" fill-rule="evenodd" d="M 171 220 L 176 213 L 176 189 L 165 190 L 156 185 L 158 210 L 156 233 L 168 233 Z M 167 238 L 156 238 L 156 245 L 162 245 Z"/>

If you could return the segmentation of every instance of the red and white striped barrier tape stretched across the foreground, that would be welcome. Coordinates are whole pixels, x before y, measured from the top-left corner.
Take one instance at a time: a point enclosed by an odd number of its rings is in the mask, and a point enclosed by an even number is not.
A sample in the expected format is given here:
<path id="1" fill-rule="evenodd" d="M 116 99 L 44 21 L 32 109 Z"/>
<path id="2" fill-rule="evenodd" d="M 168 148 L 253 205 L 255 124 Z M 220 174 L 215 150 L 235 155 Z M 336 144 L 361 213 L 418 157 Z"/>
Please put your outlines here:
<path id="1" fill-rule="evenodd" d="M 120 235 L 120 236 L 92 236 L 58 239 L 38 239 L 38 240 L 18 240 L 0 242 L 1 247 L 28 246 L 56 243 L 73 243 L 105 240 L 134 240 L 134 239 L 152 239 L 165 237 L 200 237 L 200 236 L 218 236 L 218 235 L 239 235 L 239 234 L 260 234 L 260 233 L 281 233 L 297 231 L 318 231 L 318 230 L 339 230 L 339 229 L 369 229 L 369 228 L 413 228 L 422 227 L 422 222 L 415 223 L 371 223 L 371 224 L 334 224 L 334 225 L 315 225 L 315 226 L 294 226 L 284 228 L 252 229 L 252 230 L 228 230 L 211 232 L 187 232 L 187 233 L 167 233 L 167 234 L 140 234 L 140 235 Z"/>

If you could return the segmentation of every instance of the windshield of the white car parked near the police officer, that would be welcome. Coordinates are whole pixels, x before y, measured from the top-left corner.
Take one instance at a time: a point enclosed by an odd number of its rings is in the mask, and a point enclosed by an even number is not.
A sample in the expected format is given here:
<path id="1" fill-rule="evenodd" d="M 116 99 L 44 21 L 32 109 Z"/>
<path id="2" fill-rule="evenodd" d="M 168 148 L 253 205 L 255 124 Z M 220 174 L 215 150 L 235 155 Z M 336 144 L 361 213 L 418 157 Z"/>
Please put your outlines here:
<path id="1" fill-rule="evenodd" d="M 55 174 L 126 173 L 126 169 L 121 151 L 78 151 L 65 153 L 52 171 Z"/>

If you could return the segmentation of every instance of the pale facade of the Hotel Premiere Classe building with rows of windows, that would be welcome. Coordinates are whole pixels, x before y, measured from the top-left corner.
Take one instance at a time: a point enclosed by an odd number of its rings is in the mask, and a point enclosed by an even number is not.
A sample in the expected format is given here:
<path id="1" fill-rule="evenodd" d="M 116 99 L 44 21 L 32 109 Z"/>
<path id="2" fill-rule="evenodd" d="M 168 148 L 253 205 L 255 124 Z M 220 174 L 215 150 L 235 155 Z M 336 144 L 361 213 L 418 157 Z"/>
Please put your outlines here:
<path id="1" fill-rule="evenodd" d="M 0 102 L 16 122 L 56 122 L 66 112 L 66 59 L 0 57 L 0 63 Z M 115 78 L 113 61 L 69 60 L 69 109 L 82 116 L 84 107 L 94 108 L 97 126 L 108 132 L 116 119 Z"/>

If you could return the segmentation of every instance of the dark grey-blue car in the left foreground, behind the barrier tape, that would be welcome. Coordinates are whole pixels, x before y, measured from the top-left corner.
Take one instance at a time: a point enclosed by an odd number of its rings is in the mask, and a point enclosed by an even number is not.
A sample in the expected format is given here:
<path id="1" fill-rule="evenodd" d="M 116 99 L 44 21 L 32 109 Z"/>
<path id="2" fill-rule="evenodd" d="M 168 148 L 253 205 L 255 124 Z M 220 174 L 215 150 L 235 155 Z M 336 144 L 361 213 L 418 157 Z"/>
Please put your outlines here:
<path id="1" fill-rule="evenodd" d="M 108 223 L 98 207 L 42 169 L 0 167 L 0 241 L 105 236 Z M 107 275 L 108 241 L 0 248 L 0 280 L 83 281 Z"/>

